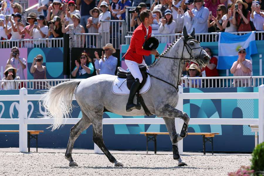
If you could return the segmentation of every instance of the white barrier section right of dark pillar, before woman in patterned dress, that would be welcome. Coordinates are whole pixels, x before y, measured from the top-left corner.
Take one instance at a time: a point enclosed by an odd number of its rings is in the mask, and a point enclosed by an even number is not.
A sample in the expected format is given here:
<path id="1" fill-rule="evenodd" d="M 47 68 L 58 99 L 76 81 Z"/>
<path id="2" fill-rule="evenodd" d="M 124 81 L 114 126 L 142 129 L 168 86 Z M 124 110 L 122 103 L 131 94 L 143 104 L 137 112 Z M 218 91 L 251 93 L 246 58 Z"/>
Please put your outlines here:
<path id="1" fill-rule="evenodd" d="M 77 40 L 76 37 L 81 35 L 81 40 L 79 40 L 79 45 L 86 48 L 100 48 L 99 33 L 74 33 L 74 38 L 72 40 Z M 84 37 L 85 36 L 85 37 Z"/>

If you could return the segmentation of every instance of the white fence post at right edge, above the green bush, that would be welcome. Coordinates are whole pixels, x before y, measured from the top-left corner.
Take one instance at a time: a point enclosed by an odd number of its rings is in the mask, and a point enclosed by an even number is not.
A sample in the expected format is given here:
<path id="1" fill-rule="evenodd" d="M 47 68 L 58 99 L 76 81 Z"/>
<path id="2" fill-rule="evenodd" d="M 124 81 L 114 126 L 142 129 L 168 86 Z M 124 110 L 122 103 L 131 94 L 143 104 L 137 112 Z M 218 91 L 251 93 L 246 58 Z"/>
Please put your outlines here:
<path id="1" fill-rule="evenodd" d="M 260 85 L 258 87 L 258 143 L 262 143 L 264 141 L 264 85 Z"/>

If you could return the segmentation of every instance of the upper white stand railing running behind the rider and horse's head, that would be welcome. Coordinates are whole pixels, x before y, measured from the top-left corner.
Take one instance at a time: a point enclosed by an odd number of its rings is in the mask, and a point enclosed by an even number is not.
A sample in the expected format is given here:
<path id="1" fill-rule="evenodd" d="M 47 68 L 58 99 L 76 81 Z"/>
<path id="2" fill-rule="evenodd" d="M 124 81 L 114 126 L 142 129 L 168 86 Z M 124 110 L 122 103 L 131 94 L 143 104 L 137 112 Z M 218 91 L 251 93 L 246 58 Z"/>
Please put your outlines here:
<path id="1" fill-rule="evenodd" d="M 247 33 L 251 33 L 252 31 L 246 31 L 246 32 L 231 32 L 232 34 L 236 35 L 244 35 Z M 263 40 L 264 31 L 255 31 L 255 40 Z M 160 34 L 152 34 L 152 37 L 158 38 L 160 43 L 166 43 L 166 41 L 162 40 L 163 38 L 170 38 L 170 39 L 176 39 L 181 37 L 182 33 L 175 33 L 175 34 L 167 34 L 167 35 L 160 35 Z M 131 34 L 125 36 L 125 42 L 126 45 L 130 44 L 131 40 Z M 194 35 L 194 38 L 198 40 L 199 42 L 217 42 L 219 39 L 219 33 L 218 32 L 212 32 L 212 33 L 196 33 Z M 170 40 L 169 40 L 170 41 Z M 171 43 L 171 42 L 167 42 Z"/>

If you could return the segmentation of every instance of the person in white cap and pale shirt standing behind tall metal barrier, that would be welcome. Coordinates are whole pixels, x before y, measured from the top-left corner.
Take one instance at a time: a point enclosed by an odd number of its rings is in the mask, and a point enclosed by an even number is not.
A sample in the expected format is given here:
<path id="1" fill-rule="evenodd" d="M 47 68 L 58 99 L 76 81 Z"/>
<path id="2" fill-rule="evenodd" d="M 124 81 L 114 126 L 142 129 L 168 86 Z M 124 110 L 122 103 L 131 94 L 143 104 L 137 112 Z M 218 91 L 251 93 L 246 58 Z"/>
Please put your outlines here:
<path id="1" fill-rule="evenodd" d="M 111 13 L 108 10 L 108 5 L 106 1 L 101 2 L 100 8 L 103 13 L 99 15 L 98 23 L 98 33 L 101 37 L 101 47 L 102 48 L 106 43 L 110 42 L 110 22 L 100 22 L 100 20 L 110 20 Z"/>

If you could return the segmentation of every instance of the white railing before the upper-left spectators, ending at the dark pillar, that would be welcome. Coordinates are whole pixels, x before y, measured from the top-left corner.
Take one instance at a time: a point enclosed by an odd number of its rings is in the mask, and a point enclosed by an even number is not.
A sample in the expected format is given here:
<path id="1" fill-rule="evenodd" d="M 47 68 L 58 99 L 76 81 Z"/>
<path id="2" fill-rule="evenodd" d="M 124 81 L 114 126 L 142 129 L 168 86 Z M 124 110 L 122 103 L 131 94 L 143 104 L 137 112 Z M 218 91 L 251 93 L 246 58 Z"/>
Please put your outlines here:
<path id="1" fill-rule="evenodd" d="M 19 39 L 0 40 L 0 48 L 53 48 L 63 47 L 63 38 L 39 38 L 39 39 Z"/>

